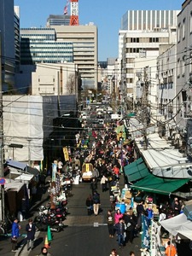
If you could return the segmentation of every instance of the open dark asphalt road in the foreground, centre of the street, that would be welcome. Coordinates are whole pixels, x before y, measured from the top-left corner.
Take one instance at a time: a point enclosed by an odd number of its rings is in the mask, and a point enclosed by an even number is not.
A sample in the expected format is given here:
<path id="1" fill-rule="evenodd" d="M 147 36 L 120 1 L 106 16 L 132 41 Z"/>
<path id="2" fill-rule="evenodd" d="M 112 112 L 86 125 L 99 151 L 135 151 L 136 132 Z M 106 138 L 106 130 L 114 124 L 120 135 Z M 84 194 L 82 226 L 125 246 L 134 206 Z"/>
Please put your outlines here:
<path id="1" fill-rule="evenodd" d="M 128 243 L 120 249 L 116 236 L 109 238 L 106 222 L 108 208 L 110 208 L 109 193 L 108 191 L 102 193 L 100 184 L 98 187 L 98 192 L 101 195 L 102 212 L 98 216 L 87 216 L 85 200 L 90 194 L 90 183 L 73 185 L 73 196 L 69 198 L 67 205 L 70 214 L 64 221 L 65 230 L 60 233 L 52 233 L 53 240 L 50 243 L 49 253 L 53 256 L 108 256 L 112 248 L 118 250 L 119 256 L 127 256 L 131 250 L 137 256 L 141 255 L 141 235 L 135 238 L 133 244 Z M 35 243 L 36 247 L 29 255 L 34 256 L 40 253 L 41 247 L 44 246 L 45 235 L 46 233 L 40 232 Z"/>

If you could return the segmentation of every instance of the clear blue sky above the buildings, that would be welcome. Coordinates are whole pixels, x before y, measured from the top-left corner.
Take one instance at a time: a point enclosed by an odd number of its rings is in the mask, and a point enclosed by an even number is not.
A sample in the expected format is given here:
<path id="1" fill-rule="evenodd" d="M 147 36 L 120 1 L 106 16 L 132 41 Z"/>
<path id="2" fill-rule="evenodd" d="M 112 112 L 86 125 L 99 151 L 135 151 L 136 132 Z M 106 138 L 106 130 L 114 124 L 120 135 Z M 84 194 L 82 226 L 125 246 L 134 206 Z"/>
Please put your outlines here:
<path id="1" fill-rule="evenodd" d="M 79 0 L 80 25 L 98 27 L 99 61 L 118 57 L 118 32 L 128 9 L 178 9 L 184 0 Z M 15 0 L 20 6 L 20 27 L 44 27 L 49 15 L 62 15 L 67 0 Z M 69 9 L 70 11 L 70 9 Z"/>

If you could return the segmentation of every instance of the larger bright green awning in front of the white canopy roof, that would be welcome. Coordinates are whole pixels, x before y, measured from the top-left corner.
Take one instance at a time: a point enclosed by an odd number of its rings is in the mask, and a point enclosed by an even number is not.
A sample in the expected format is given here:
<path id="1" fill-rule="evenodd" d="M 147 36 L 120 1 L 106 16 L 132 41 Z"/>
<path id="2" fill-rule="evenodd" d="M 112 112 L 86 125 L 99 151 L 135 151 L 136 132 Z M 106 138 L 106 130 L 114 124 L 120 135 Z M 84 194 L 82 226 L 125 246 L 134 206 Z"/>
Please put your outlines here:
<path id="1" fill-rule="evenodd" d="M 189 180 L 189 178 L 176 179 L 156 177 L 149 173 L 148 176 L 131 185 L 131 189 L 169 195 L 170 193 L 181 188 L 185 183 L 188 183 Z"/>

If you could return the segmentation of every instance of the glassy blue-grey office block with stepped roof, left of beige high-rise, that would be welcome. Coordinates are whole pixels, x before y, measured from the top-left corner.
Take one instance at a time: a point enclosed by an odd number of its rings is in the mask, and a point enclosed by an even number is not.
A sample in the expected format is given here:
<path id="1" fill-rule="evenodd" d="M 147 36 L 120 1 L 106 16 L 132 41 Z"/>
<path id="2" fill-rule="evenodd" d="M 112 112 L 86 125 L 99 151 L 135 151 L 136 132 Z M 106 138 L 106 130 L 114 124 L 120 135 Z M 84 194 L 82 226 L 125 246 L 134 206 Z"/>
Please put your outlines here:
<path id="1" fill-rule="evenodd" d="M 20 29 L 20 63 L 73 62 L 73 43 L 56 41 L 54 28 Z"/>

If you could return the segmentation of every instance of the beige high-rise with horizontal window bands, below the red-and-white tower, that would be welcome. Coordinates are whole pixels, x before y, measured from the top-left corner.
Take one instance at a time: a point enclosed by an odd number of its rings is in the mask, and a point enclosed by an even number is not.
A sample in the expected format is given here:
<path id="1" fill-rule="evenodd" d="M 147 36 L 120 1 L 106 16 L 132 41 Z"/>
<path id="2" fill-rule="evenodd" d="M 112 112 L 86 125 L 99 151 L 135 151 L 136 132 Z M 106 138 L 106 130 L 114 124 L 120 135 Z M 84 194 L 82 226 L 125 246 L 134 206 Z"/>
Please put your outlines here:
<path id="1" fill-rule="evenodd" d="M 98 36 L 97 27 L 50 26 L 55 29 L 57 42 L 73 43 L 73 62 L 78 65 L 83 89 L 97 89 Z"/>

